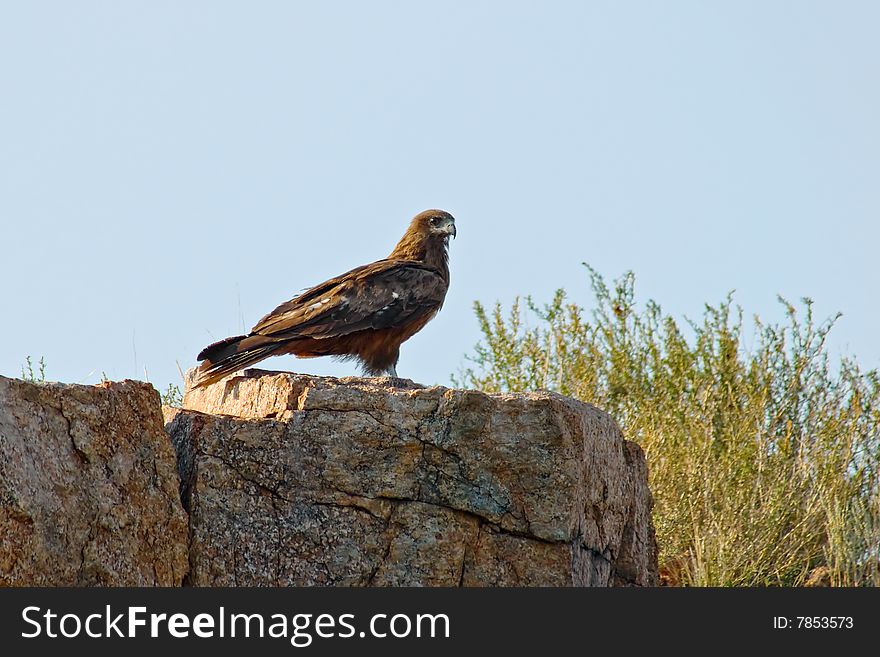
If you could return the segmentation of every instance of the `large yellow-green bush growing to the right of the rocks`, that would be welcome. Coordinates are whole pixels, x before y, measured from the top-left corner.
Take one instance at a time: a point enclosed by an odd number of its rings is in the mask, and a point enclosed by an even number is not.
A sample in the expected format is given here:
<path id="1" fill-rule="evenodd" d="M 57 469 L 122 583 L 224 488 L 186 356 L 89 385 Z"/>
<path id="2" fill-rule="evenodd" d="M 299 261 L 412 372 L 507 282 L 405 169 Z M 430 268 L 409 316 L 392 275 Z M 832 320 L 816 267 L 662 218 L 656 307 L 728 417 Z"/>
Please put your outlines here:
<path id="1" fill-rule="evenodd" d="M 880 584 L 880 377 L 830 364 L 837 318 L 780 298 L 786 322 L 755 317 L 745 342 L 729 295 L 682 330 L 637 308 L 631 272 L 609 288 L 588 269 L 591 313 L 562 290 L 506 314 L 477 302 L 483 341 L 457 383 L 546 388 L 615 417 L 645 449 L 671 583 Z"/>

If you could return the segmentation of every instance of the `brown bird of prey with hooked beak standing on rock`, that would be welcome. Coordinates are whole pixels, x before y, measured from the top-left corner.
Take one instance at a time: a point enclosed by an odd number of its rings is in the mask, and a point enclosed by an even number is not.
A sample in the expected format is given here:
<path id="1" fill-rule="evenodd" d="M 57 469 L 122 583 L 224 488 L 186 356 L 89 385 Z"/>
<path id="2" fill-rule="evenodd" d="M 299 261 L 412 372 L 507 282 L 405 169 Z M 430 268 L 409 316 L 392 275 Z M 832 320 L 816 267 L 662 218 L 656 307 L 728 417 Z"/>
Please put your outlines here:
<path id="1" fill-rule="evenodd" d="M 269 356 L 357 359 L 370 376 L 397 376 L 400 345 L 437 314 L 449 288 L 442 210 L 416 215 L 391 254 L 306 290 L 263 317 L 249 335 L 205 347 L 193 386 L 219 381 Z"/>

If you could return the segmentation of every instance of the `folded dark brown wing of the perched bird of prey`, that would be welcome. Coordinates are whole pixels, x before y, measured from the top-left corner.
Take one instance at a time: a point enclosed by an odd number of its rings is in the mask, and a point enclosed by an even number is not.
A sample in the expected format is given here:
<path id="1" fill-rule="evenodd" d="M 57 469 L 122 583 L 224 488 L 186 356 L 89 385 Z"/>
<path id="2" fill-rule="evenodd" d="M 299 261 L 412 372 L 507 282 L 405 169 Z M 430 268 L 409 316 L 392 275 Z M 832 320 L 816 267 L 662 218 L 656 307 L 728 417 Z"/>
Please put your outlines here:
<path id="1" fill-rule="evenodd" d="M 332 338 L 402 326 L 433 314 L 446 296 L 440 273 L 409 260 L 379 260 L 303 292 L 263 317 L 252 334 Z"/>

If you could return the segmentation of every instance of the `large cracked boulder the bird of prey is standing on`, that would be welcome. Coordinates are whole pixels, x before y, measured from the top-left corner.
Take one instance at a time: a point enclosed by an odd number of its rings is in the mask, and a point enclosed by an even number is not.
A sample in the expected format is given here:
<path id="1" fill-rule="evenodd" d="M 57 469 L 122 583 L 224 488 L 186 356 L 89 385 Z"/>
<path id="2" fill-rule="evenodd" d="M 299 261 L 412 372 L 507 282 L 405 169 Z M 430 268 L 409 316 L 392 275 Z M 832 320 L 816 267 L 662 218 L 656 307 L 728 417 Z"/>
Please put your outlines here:
<path id="1" fill-rule="evenodd" d="M 184 407 L 193 585 L 658 582 L 644 454 L 588 404 L 246 370 Z"/>

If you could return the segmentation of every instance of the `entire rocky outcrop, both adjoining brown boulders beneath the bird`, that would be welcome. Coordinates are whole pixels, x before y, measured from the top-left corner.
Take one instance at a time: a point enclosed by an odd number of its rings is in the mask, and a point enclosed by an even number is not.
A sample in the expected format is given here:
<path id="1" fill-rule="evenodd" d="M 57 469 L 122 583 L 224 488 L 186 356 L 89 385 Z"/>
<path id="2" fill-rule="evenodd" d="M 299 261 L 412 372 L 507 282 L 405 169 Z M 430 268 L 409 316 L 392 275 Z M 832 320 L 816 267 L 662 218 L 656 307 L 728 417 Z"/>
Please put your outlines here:
<path id="1" fill-rule="evenodd" d="M 592 406 L 256 370 L 185 405 L 0 377 L 0 585 L 657 582 L 644 455 Z"/>

